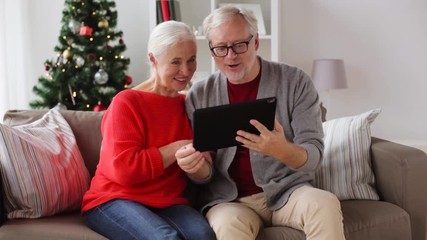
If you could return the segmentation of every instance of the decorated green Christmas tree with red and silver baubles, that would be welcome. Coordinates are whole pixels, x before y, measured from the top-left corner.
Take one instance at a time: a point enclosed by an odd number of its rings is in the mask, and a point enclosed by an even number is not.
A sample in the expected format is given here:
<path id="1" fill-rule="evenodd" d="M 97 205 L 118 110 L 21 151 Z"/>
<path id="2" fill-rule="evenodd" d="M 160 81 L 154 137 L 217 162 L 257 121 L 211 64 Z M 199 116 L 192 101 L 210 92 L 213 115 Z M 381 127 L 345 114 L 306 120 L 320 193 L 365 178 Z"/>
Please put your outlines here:
<path id="1" fill-rule="evenodd" d="M 65 0 L 57 57 L 44 63 L 46 75 L 33 92 L 32 108 L 101 111 L 126 89 L 129 59 L 123 32 L 114 30 L 117 11 L 113 0 Z"/>

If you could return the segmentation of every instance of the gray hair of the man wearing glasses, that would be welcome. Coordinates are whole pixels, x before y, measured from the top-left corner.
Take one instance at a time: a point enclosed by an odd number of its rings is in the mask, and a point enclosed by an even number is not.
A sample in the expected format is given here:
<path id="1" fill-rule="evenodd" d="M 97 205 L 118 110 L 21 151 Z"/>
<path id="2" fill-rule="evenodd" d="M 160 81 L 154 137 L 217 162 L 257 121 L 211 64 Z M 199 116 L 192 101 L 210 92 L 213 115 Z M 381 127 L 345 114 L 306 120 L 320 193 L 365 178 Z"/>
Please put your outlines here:
<path id="1" fill-rule="evenodd" d="M 203 33 L 210 41 L 209 32 L 212 28 L 216 28 L 222 23 L 239 16 L 246 21 L 250 34 L 255 36 L 258 33 L 258 20 L 255 14 L 251 10 L 236 7 L 232 4 L 217 8 L 209 14 L 203 21 Z"/>

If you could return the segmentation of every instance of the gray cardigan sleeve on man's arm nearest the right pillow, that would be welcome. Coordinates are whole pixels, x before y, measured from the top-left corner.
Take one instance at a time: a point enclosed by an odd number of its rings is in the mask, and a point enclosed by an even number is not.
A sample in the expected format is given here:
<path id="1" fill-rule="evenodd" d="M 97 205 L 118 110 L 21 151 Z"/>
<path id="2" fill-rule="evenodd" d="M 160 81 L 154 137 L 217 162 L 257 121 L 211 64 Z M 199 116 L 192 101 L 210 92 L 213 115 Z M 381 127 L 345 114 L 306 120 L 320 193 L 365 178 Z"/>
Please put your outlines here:
<path id="1" fill-rule="evenodd" d="M 262 61 L 261 97 L 276 96 L 276 117 L 285 130 L 286 139 L 307 151 L 306 163 L 294 169 L 314 171 L 322 159 L 323 128 L 319 96 L 308 74 L 282 63 Z"/>

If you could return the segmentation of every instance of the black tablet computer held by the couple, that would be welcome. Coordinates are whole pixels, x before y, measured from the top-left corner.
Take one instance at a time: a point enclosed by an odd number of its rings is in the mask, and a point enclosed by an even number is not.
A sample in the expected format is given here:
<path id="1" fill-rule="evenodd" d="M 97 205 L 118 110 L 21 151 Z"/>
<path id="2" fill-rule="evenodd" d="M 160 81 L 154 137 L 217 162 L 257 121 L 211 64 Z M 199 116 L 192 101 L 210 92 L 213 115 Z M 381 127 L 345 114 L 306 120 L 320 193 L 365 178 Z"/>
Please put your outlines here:
<path id="1" fill-rule="evenodd" d="M 238 130 L 259 134 L 249 123 L 251 119 L 272 130 L 275 113 L 275 97 L 196 109 L 193 112 L 193 146 L 198 151 L 211 151 L 240 145 L 235 140 Z"/>

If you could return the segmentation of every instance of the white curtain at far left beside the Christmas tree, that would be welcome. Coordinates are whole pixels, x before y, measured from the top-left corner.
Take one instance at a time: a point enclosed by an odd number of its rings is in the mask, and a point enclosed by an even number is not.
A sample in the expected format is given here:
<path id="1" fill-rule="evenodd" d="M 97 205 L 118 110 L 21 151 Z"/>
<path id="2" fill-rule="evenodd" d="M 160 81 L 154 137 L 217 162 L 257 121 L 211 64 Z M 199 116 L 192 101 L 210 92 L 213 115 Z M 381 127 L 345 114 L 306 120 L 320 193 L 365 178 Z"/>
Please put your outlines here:
<path id="1" fill-rule="evenodd" d="M 9 109 L 28 109 L 33 80 L 28 77 L 28 0 L 0 1 L 0 120 Z"/>

